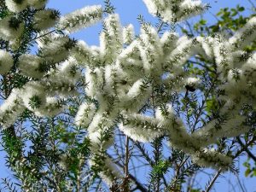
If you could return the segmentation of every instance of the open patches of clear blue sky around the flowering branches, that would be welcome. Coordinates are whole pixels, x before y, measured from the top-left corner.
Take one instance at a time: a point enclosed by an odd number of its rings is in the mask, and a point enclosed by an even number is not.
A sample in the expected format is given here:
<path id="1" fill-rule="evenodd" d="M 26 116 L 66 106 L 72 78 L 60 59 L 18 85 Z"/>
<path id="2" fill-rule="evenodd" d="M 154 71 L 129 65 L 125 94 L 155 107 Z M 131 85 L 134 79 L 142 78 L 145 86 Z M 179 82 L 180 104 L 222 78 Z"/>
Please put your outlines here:
<path id="1" fill-rule="evenodd" d="M 139 25 L 137 21 L 137 15 L 143 15 L 144 18 L 148 21 L 155 22 L 155 19 L 151 16 L 148 15 L 148 11 L 143 3 L 142 0 L 112 0 L 111 1 L 116 8 L 116 13 L 120 15 L 120 19 L 123 25 L 132 23 L 135 28 L 136 32 L 139 32 Z M 251 5 L 248 3 L 247 0 L 202 0 L 203 3 L 210 3 L 211 7 L 203 17 L 208 20 L 209 22 L 214 22 L 215 19 L 212 17 L 210 12 L 212 14 L 216 14 L 219 9 L 224 8 L 224 7 L 236 7 L 236 4 L 240 3 L 241 5 L 249 8 Z M 48 7 L 49 8 L 54 8 L 54 9 L 59 9 L 61 11 L 61 14 L 65 15 L 69 12 L 72 12 L 75 9 L 82 8 L 87 5 L 93 5 L 93 4 L 102 4 L 103 5 L 103 0 L 49 0 Z M 256 2 L 255 2 L 256 4 Z M 248 13 L 248 10 L 247 10 Z M 197 17 L 198 18 L 198 17 Z M 196 18 L 189 20 L 189 22 L 194 22 Z M 96 44 L 98 45 L 98 34 L 101 30 L 101 24 L 97 24 L 96 26 L 92 26 L 90 28 L 84 29 L 80 32 L 73 33 L 72 36 L 77 39 L 83 39 L 87 44 L 93 45 Z M 7 177 L 9 176 L 9 171 L 7 168 L 4 166 L 4 160 L 3 160 L 4 153 L 0 153 L 0 177 Z M 241 158 L 241 162 L 243 162 L 245 158 Z M 256 189 L 256 183 L 255 180 L 256 178 L 254 177 L 254 182 L 252 178 L 244 178 L 244 170 L 241 166 L 241 163 L 239 164 L 241 167 L 241 173 L 239 174 L 238 177 L 241 177 L 241 181 L 245 183 L 247 187 L 247 192 L 253 192 Z M 210 171 L 212 172 L 212 171 Z M 143 173 L 142 173 L 143 174 Z M 230 178 L 230 181 L 234 183 L 234 185 L 237 184 L 237 179 L 234 175 L 230 173 L 224 174 L 224 177 L 220 177 L 218 179 L 218 183 L 215 185 L 216 191 L 220 192 L 226 192 L 226 191 L 233 191 L 231 185 L 228 183 L 228 178 Z M 199 182 L 201 183 L 202 186 L 204 186 L 207 182 L 207 175 L 202 174 L 199 175 L 198 177 Z M 254 190 L 253 190 L 254 189 Z M 237 190 L 239 191 L 239 190 Z M 256 190 L 255 190 L 256 191 Z"/>

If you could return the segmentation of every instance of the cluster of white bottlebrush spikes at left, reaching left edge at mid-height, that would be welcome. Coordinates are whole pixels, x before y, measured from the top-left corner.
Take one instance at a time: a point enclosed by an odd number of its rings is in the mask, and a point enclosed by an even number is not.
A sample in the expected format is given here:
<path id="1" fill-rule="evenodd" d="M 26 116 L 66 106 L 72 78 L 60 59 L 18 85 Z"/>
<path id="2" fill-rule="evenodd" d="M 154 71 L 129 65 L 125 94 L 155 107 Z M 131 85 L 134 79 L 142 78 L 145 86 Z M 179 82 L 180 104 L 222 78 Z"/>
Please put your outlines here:
<path id="1" fill-rule="evenodd" d="M 55 67 L 55 70 L 45 73 L 45 77 L 44 73 L 37 72 L 39 61 L 41 58 L 35 55 L 20 56 L 22 73 L 39 80 L 29 81 L 22 88 L 12 90 L 0 107 L 3 128 L 13 124 L 26 108 L 40 117 L 55 116 L 63 110 L 61 100 L 77 93 L 74 87 L 81 74 L 72 57 Z M 31 68 L 26 67 L 29 64 Z"/>

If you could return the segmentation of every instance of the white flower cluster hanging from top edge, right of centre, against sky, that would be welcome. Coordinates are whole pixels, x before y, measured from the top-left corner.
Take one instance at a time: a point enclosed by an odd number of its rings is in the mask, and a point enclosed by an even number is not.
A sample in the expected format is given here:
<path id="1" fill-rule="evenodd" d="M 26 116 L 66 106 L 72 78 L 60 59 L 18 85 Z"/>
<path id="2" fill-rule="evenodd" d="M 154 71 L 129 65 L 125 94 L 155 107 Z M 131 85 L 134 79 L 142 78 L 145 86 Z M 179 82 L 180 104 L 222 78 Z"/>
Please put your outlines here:
<path id="1" fill-rule="evenodd" d="M 143 0 L 152 15 L 160 15 L 166 22 L 186 20 L 193 15 L 200 14 L 205 5 L 200 0 Z"/>

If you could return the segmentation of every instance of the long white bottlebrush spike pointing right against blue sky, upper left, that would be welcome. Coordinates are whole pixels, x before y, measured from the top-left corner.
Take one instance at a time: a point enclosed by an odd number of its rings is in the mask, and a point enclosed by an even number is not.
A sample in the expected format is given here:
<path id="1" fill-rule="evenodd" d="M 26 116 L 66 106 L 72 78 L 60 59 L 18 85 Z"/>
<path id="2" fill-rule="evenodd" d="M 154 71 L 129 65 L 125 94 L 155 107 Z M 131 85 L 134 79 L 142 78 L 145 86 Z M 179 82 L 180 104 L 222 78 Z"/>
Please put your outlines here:
<path id="1" fill-rule="evenodd" d="M 102 6 L 94 5 L 78 9 L 73 13 L 61 17 L 58 28 L 67 32 L 76 32 L 91 26 L 102 19 Z"/>

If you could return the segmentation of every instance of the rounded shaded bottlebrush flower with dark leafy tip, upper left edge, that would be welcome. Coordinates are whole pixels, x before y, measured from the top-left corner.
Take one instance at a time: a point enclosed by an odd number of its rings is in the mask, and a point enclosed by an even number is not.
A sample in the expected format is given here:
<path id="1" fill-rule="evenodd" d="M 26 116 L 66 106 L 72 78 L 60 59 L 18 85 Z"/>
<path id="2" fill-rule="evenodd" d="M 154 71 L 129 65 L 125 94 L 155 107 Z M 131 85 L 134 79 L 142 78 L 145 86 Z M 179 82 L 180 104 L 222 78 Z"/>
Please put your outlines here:
<path id="1" fill-rule="evenodd" d="M 20 38 L 24 30 L 24 23 L 9 15 L 0 20 L 0 38 L 6 41 L 14 41 Z"/>

